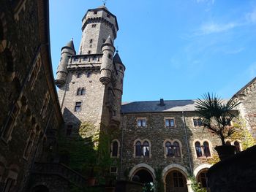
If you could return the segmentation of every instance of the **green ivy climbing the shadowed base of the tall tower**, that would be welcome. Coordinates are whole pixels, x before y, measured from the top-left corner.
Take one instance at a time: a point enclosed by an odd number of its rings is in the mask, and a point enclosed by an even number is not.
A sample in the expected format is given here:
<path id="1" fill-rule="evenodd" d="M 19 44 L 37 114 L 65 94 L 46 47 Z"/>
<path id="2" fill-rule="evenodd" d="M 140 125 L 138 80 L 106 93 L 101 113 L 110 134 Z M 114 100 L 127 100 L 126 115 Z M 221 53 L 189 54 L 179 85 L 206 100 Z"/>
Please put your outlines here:
<path id="1" fill-rule="evenodd" d="M 92 123 L 83 122 L 77 136 L 59 137 L 59 154 L 68 155 L 68 166 L 83 176 L 104 177 L 112 162 L 109 140 L 108 134 L 100 132 Z"/>

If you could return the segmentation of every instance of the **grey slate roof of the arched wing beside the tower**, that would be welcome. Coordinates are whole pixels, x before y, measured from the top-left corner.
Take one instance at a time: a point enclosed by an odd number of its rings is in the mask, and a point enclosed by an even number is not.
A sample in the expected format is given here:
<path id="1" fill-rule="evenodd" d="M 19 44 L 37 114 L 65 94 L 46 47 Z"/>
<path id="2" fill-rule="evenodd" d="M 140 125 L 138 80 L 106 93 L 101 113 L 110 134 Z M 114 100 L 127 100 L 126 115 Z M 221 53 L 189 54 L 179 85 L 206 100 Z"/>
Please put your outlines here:
<path id="1" fill-rule="evenodd" d="M 196 100 L 169 100 L 164 101 L 164 106 L 160 105 L 160 101 L 124 102 L 121 106 L 121 112 L 189 112 L 195 110 L 195 101 Z M 223 101 L 226 103 L 228 99 L 224 99 Z"/>

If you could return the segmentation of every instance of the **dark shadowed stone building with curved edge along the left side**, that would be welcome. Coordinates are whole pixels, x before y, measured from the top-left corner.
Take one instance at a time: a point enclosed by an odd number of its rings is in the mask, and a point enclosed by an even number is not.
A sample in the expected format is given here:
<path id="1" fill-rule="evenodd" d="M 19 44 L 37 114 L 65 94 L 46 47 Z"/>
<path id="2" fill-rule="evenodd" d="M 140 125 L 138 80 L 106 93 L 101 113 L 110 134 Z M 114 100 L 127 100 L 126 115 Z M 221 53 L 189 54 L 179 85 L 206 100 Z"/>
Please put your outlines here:
<path id="1" fill-rule="evenodd" d="M 0 191 L 22 191 L 34 161 L 53 158 L 63 123 L 50 62 L 48 1 L 1 1 L 0 106 Z"/>

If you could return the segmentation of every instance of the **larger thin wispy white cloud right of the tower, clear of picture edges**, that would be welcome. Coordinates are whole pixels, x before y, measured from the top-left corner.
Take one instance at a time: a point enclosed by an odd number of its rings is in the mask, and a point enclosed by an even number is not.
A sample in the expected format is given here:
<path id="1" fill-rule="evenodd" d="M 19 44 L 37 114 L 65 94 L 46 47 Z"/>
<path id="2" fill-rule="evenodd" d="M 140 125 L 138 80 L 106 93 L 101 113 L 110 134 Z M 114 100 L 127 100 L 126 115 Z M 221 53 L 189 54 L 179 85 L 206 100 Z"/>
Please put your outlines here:
<path id="1" fill-rule="evenodd" d="M 219 24 L 219 23 L 206 23 L 203 26 L 200 26 L 199 30 L 197 31 L 197 35 L 203 34 L 215 34 L 220 33 L 223 31 L 228 31 L 230 29 L 236 28 L 240 26 L 238 23 L 226 23 L 226 24 Z"/>

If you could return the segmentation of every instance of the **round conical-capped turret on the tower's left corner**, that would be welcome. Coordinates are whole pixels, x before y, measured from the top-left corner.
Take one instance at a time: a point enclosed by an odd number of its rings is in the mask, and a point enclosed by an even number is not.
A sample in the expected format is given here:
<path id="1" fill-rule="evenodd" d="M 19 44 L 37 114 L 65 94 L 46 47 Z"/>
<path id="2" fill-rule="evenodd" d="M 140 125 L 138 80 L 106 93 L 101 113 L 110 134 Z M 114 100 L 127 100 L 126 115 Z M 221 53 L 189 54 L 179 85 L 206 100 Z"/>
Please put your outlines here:
<path id="1" fill-rule="evenodd" d="M 69 61 L 69 55 L 75 55 L 75 48 L 73 40 L 71 39 L 66 46 L 61 48 L 61 61 L 57 69 L 57 77 L 55 84 L 60 88 L 67 80 L 67 63 Z"/>

